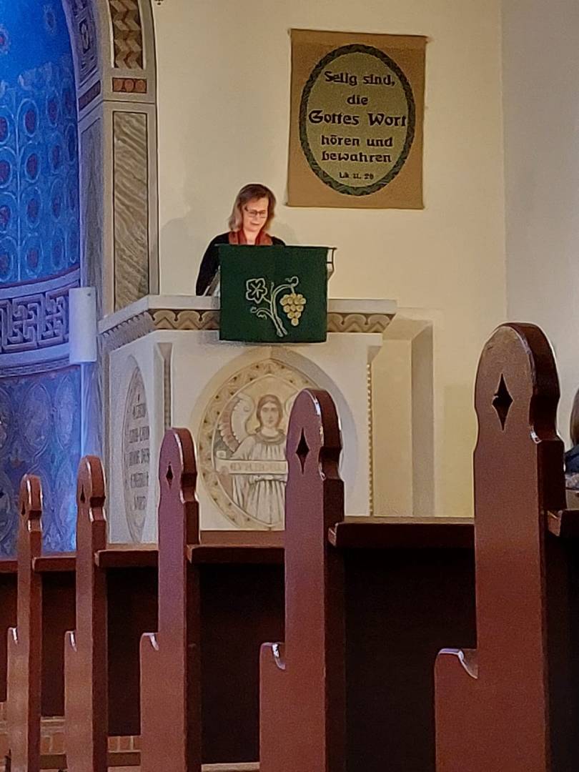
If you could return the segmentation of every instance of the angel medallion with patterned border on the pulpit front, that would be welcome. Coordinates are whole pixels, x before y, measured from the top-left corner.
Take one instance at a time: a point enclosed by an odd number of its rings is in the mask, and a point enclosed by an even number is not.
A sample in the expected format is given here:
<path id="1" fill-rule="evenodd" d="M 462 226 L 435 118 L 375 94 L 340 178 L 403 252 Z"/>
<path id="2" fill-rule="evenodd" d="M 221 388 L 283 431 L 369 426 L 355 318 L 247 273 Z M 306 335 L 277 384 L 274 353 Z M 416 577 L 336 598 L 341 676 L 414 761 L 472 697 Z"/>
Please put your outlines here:
<path id="1" fill-rule="evenodd" d="M 303 374 L 269 360 L 236 374 L 208 406 L 201 476 L 236 525 L 283 527 L 287 422 L 296 395 L 310 386 Z"/>

